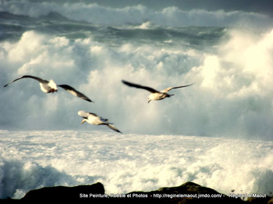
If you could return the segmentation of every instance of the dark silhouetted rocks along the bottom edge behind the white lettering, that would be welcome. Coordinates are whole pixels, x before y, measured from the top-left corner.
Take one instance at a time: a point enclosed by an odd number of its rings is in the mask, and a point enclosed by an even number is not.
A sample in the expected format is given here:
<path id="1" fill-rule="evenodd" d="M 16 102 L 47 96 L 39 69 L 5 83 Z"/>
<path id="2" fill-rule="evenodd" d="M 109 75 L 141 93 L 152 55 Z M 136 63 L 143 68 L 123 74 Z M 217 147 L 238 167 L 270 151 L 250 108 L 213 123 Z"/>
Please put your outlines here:
<path id="1" fill-rule="evenodd" d="M 0 203 L 37 203 L 45 202 L 76 202 L 76 203 L 273 203 L 273 197 L 265 194 L 248 195 L 230 193 L 224 195 L 214 189 L 186 182 L 181 186 L 160 188 L 150 192 L 130 192 L 127 194 L 104 194 L 101 183 L 75 187 L 44 187 L 29 191 L 21 199 L 0 199 Z"/>

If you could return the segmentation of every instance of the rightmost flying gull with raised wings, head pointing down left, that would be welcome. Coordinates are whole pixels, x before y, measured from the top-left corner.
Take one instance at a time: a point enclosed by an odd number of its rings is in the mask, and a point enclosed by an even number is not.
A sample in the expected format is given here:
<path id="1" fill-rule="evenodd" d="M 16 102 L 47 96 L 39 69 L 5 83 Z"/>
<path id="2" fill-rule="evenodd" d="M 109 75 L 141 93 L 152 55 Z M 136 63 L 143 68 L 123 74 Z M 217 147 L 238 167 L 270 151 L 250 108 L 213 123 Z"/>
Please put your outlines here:
<path id="1" fill-rule="evenodd" d="M 169 87 L 169 88 L 166 88 L 162 91 L 157 91 L 151 87 L 147 87 L 147 86 L 141 86 L 139 84 L 133 84 L 131 82 L 127 82 L 127 81 L 124 81 L 122 80 L 122 82 L 128 86 L 132 86 L 132 87 L 136 87 L 136 88 L 140 88 L 140 89 L 145 89 L 147 91 L 150 91 L 151 94 L 148 96 L 148 103 L 151 101 L 151 100 L 162 100 L 164 99 L 165 97 L 171 97 L 172 95 L 174 94 L 168 94 L 167 92 L 172 90 L 172 89 L 177 89 L 177 88 L 182 88 L 182 87 L 187 87 L 187 86 L 192 86 L 193 84 L 190 84 L 190 85 L 186 85 L 186 86 L 177 86 L 177 87 Z"/>

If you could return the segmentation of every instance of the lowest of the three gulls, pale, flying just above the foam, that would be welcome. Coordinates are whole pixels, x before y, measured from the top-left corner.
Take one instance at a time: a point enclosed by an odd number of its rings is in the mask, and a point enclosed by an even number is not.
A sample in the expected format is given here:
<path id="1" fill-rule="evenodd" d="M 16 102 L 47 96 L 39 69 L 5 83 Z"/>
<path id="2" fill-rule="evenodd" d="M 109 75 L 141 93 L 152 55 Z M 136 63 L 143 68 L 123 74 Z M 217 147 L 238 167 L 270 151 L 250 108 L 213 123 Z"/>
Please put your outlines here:
<path id="1" fill-rule="evenodd" d="M 78 111 L 78 115 L 83 117 L 84 119 L 81 121 L 81 124 L 84 122 L 88 122 L 89 124 L 94 124 L 94 125 L 106 125 L 110 129 L 121 133 L 114 125 L 113 123 L 108 122 L 108 119 L 101 118 L 97 116 L 95 113 L 88 113 L 85 111 Z"/>

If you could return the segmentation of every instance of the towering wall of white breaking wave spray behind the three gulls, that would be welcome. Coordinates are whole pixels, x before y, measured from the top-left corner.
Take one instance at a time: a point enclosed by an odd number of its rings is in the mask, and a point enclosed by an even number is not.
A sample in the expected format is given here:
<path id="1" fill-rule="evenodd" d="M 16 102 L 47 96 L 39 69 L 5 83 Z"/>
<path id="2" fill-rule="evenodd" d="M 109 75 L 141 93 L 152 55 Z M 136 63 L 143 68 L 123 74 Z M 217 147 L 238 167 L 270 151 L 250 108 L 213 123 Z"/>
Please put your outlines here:
<path id="1" fill-rule="evenodd" d="M 112 46 L 92 36 L 72 41 L 25 32 L 18 42 L 1 42 L 3 85 L 23 74 L 37 75 L 69 84 L 95 104 L 62 90 L 44 94 L 36 81 L 19 80 L 0 90 L 2 128 L 101 130 L 80 125 L 77 111 L 85 110 L 125 133 L 271 140 L 273 31 L 230 30 L 226 36 L 212 51 L 119 40 Z M 149 92 L 124 86 L 122 79 L 159 90 L 196 84 L 147 104 Z"/>

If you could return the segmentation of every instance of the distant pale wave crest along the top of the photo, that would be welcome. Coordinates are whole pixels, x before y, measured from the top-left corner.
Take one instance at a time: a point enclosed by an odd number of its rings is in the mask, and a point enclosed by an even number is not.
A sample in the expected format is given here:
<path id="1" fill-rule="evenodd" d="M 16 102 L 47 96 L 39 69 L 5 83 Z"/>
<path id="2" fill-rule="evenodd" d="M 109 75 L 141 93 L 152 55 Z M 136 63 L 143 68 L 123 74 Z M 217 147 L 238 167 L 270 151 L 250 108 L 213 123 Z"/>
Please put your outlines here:
<path id="1" fill-rule="evenodd" d="M 55 2 L 43 2 L 41 4 L 28 1 L 2 0 L 0 1 L 0 8 L 0 11 L 30 17 L 46 16 L 50 12 L 56 12 L 72 20 L 111 25 L 142 24 L 151 21 L 158 25 L 171 27 L 186 25 L 226 27 L 228 25 L 242 26 L 245 23 L 264 26 L 271 22 L 270 17 L 266 15 L 243 11 L 184 11 L 177 7 L 166 7 L 161 11 L 154 11 L 142 5 L 108 8 L 86 3 L 57 4 Z"/>

